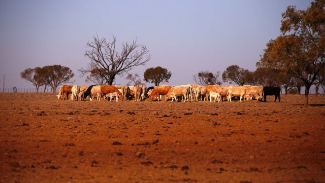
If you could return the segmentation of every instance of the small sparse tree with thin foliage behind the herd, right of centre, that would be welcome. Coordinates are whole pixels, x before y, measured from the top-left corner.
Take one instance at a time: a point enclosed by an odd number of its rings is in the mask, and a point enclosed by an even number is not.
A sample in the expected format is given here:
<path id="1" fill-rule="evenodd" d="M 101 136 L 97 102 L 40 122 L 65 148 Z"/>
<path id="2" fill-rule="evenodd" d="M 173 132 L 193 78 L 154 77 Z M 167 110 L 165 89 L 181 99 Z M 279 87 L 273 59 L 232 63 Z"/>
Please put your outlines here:
<path id="1" fill-rule="evenodd" d="M 203 85 L 203 86 L 222 83 L 219 71 L 217 73 L 201 71 L 201 72 L 193 75 L 193 79 L 196 84 Z"/>

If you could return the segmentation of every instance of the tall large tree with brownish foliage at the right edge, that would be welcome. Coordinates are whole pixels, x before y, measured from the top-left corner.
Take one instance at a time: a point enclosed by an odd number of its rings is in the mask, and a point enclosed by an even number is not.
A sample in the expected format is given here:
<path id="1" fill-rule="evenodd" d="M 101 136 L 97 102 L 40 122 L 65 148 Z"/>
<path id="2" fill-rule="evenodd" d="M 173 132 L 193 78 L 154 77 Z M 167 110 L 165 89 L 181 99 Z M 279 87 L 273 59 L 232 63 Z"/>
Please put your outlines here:
<path id="1" fill-rule="evenodd" d="M 258 66 L 279 69 L 301 79 L 305 102 L 317 75 L 325 67 L 325 0 L 315 0 L 307 10 L 289 6 L 282 13 L 281 33 L 266 44 Z"/>

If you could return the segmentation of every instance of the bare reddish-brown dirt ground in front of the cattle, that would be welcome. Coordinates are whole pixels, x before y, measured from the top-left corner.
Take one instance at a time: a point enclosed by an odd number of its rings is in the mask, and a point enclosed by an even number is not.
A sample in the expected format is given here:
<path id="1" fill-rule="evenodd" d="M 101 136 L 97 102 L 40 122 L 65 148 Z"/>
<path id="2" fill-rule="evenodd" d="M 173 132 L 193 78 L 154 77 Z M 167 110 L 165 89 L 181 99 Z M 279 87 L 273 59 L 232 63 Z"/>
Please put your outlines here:
<path id="1" fill-rule="evenodd" d="M 0 182 L 325 182 L 325 97 L 59 101 L 0 94 Z M 271 102 L 272 101 L 272 102 Z"/>

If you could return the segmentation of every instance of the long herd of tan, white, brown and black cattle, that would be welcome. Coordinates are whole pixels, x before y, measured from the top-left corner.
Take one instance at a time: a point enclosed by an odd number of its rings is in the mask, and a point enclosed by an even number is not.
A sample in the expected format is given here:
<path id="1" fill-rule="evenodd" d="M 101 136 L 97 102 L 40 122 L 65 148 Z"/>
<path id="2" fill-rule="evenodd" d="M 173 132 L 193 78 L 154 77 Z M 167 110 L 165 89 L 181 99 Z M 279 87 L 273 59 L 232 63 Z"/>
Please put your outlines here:
<path id="1" fill-rule="evenodd" d="M 149 98 L 150 101 L 155 99 L 162 100 L 164 96 L 164 101 L 171 99 L 171 102 L 175 99 L 183 100 L 184 102 L 189 102 L 190 100 L 209 100 L 214 102 L 229 101 L 233 99 L 242 100 L 261 100 L 264 97 L 264 102 L 266 102 L 267 95 L 275 95 L 275 100 L 277 98 L 280 102 L 280 87 L 271 87 L 271 86 L 221 86 L 216 85 L 196 85 L 196 84 L 187 84 L 187 85 L 178 85 L 178 86 L 155 86 L 146 88 L 144 85 L 136 86 L 118 86 L 118 85 L 91 85 L 91 86 L 80 86 L 80 85 L 63 85 L 60 87 L 58 99 L 68 99 L 71 94 L 71 100 L 85 100 L 89 98 L 90 101 L 97 99 L 100 101 L 100 98 L 104 100 L 112 99 L 116 102 L 120 100 L 132 100 L 143 101 L 146 98 Z"/>

